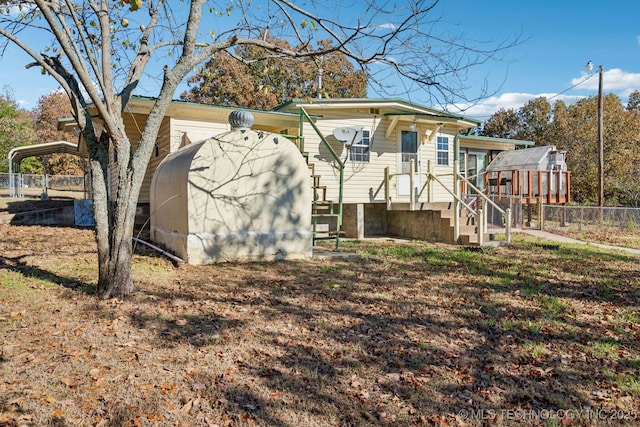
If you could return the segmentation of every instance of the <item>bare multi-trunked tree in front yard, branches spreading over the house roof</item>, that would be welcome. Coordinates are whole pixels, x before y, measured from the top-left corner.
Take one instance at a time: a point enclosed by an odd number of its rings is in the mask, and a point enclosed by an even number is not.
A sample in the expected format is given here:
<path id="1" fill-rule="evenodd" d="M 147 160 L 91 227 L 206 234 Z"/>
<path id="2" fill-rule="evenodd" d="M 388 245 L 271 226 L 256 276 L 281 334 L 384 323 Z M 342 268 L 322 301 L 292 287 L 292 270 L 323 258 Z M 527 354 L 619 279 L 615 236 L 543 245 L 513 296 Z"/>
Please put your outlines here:
<path id="1" fill-rule="evenodd" d="M 465 96 L 467 70 L 515 43 L 485 49 L 482 43 L 470 45 L 448 36 L 446 29 L 438 29 L 437 0 L 407 0 L 400 6 L 375 0 L 350 3 L 327 8 L 326 2 L 315 0 L 0 1 L 0 48 L 17 45 L 33 59 L 28 68 L 39 68 L 60 84 L 87 145 L 101 298 L 122 297 L 135 289 L 133 221 L 161 120 L 180 82 L 216 52 L 234 55 L 242 51 L 238 46 L 266 52 L 264 58 L 237 58 L 245 62 L 341 52 L 367 71 L 376 90 L 403 92 L 386 80 L 386 75 L 399 75 L 427 89 L 432 104 L 444 105 L 472 101 Z M 307 48 L 276 45 L 260 37 L 264 29 Z M 157 94 L 141 138 L 132 144 L 122 112 L 147 81 L 145 73 L 152 71 L 154 61 L 164 65 L 156 77 Z M 117 154 L 114 165 L 110 147 Z M 107 191 L 111 166 L 117 171 L 114 194 Z"/>

